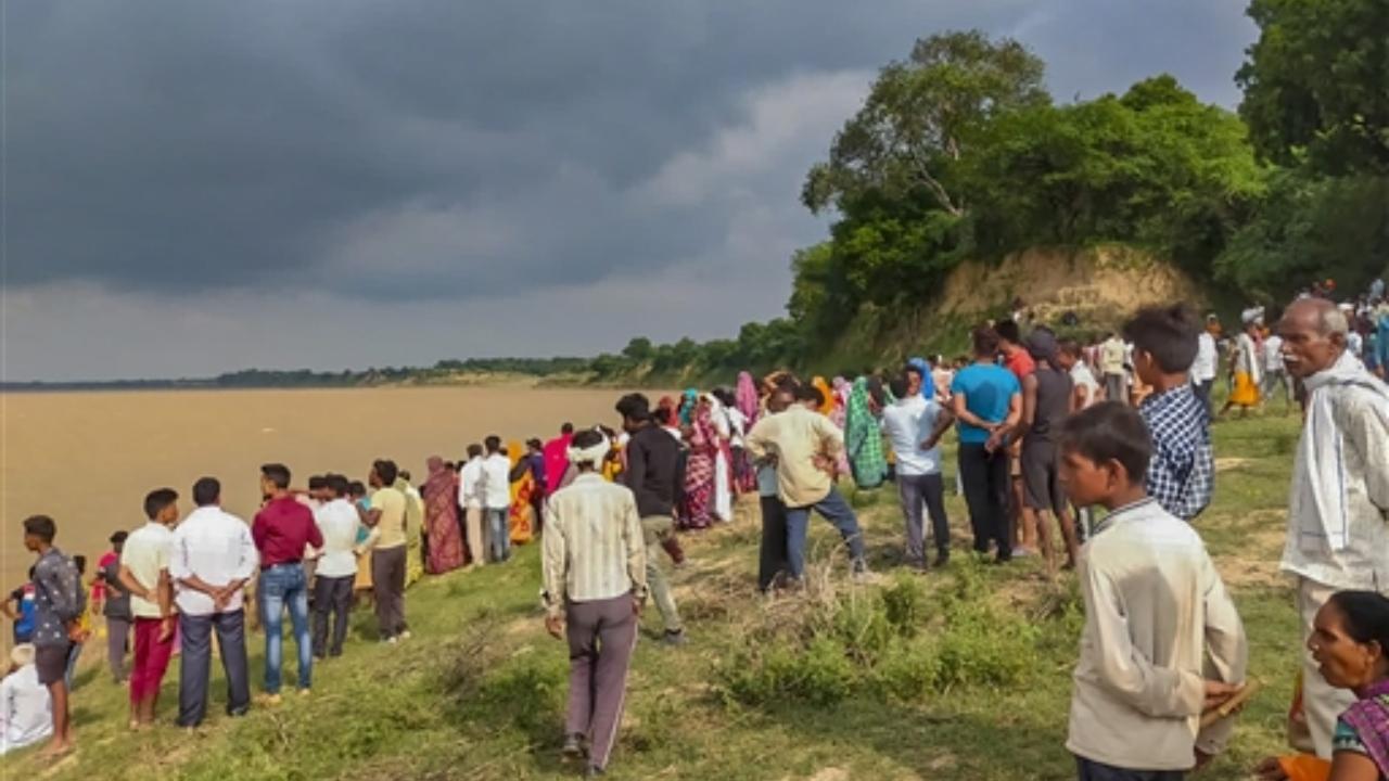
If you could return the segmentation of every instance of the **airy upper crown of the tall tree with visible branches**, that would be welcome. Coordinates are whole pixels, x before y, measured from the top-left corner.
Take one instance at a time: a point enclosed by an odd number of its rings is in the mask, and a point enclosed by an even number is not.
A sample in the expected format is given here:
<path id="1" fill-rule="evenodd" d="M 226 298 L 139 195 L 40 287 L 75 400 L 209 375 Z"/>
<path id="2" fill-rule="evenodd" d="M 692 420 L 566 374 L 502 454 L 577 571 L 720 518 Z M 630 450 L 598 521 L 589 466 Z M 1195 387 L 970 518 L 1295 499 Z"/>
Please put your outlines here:
<path id="1" fill-rule="evenodd" d="M 890 196 L 922 188 L 936 208 L 963 215 L 951 167 L 990 118 L 1050 100 L 1042 74 L 1042 61 L 1011 39 L 970 31 L 918 40 L 906 63 L 882 69 L 829 160 L 811 168 L 801 200 L 815 213 L 849 211 L 870 189 Z"/>

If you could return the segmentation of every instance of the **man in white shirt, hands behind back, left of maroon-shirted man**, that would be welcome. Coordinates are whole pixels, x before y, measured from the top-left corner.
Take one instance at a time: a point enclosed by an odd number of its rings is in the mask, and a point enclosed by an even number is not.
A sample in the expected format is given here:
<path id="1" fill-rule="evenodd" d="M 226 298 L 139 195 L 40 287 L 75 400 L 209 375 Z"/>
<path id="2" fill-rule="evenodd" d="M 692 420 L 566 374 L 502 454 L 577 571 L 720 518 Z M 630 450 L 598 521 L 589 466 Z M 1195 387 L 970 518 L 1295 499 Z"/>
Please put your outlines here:
<path id="1" fill-rule="evenodd" d="M 250 710 L 246 663 L 246 581 L 260 556 L 246 521 L 224 513 L 222 485 L 210 477 L 193 484 L 197 504 L 174 529 L 169 578 L 175 586 L 182 636 L 178 682 L 178 725 L 197 727 L 207 714 L 207 681 L 213 661 L 211 632 L 226 674 L 226 714 Z"/>

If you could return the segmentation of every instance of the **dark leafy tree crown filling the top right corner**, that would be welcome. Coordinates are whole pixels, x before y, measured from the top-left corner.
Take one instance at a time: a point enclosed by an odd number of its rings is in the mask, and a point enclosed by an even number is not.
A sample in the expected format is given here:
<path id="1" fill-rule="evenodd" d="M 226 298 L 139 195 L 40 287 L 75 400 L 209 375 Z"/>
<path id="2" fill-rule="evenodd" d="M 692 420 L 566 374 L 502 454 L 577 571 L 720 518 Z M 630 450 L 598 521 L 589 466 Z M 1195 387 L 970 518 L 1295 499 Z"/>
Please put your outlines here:
<path id="1" fill-rule="evenodd" d="M 1235 76 L 1254 146 L 1324 174 L 1389 172 L 1389 1 L 1253 0 L 1258 40 Z"/>

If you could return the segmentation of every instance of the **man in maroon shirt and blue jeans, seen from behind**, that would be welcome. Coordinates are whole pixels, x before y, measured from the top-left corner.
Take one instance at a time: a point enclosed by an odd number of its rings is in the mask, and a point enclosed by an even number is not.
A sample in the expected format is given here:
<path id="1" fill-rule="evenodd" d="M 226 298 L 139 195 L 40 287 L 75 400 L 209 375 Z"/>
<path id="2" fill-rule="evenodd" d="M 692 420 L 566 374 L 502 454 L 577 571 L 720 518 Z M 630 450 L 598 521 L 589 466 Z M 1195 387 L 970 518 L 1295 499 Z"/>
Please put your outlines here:
<path id="1" fill-rule="evenodd" d="M 289 492 L 289 467 L 261 467 L 261 495 L 265 504 L 256 513 L 251 538 L 261 557 L 260 584 L 256 589 L 265 623 L 265 700 L 279 702 L 279 670 L 283 661 L 281 621 L 285 607 L 294 630 L 299 649 L 299 693 L 308 693 L 314 667 L 314 648 L 308 636 L 308 582 L 304 554 L 322 548 L 324 536 L 314 523 L 314 513 Z"/>

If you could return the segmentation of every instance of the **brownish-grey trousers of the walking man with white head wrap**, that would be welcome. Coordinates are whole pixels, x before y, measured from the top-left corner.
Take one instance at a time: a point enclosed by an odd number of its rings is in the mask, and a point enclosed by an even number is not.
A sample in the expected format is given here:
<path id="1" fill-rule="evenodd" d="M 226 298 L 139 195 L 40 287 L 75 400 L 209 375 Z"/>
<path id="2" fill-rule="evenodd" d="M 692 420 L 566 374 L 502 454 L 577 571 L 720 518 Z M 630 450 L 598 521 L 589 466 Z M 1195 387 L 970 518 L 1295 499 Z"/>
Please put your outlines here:
<path id="1" fill-rule="evenodd" d="M 607 767 L 622 721 L 626 671 L 636 648 L 632 596 L 571 602 L 565 606 L 569 641 L 569 714 L 564 731 L 589 738 L 589 764 Z"/>

